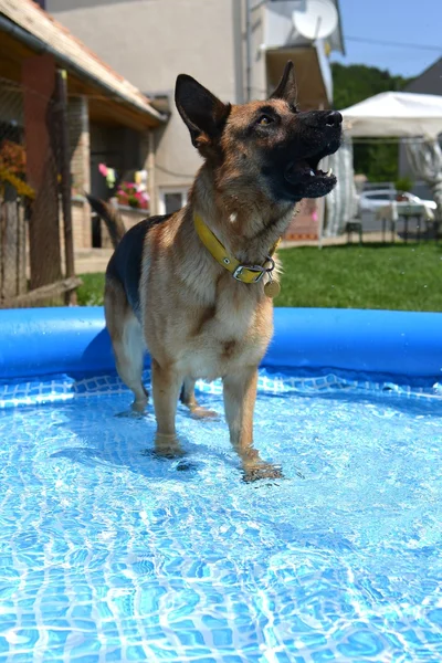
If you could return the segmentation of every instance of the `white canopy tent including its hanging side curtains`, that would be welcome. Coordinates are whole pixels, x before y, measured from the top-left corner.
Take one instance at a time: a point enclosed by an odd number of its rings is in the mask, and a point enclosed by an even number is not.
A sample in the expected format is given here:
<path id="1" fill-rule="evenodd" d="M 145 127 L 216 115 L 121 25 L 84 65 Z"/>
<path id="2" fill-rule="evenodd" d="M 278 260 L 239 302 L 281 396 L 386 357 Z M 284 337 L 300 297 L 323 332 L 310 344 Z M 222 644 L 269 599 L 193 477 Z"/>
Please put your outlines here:
<path id="1" fill-rule="evenodd" d="M 424 179 L 433 190 L 442 218 L 442 159 L 438 136 L 442 134 L 442 96 L 409 92 L 382 92 L 341 110 L 347 138 L 402 138 L 417 178 Z M 408 140 L 407 140 L 408 139 Z M 339 154 L 343 152 L 343 154 Z M 343 167 L 341 161 L 346 167 Z M 355 189 L 351 178 L 351 141 L 344 143 L 330 165 L 338 183 L 326 198 L 327 225 L 325 236 L 341 232 L 352 219 Z"/>

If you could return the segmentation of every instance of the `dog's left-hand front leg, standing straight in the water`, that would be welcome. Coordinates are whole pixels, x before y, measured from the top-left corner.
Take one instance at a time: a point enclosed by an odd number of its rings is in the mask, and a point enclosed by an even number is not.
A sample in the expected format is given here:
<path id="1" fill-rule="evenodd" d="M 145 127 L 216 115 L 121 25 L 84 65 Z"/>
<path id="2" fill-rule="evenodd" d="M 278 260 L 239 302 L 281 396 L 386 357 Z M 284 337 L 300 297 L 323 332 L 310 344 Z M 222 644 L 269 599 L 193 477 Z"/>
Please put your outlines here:
<path id="1" fill-rule="evenodd" d="M 182 376 L 173 366 L 160 366 L 155 359 L 151 362 L 151 370 L 154 408 L 157 419 L 155 451 L 158 455 L 166 457 L 182 455 L 183 452 L 175 429 Z"/>

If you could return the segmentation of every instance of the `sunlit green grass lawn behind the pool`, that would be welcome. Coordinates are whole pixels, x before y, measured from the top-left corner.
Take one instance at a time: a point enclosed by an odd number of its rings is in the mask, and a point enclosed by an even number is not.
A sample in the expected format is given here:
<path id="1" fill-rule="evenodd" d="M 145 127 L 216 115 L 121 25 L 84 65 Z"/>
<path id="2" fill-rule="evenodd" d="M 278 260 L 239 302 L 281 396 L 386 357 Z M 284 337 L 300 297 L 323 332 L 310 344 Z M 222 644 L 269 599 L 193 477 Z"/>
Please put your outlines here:
<path id="1" fill-rule="evenodd" d="M 284 249 L 276 306 L 442 311 L 442 245 Z M 103 274 L 82 274 L 78 304 L 103 304 Z"/>

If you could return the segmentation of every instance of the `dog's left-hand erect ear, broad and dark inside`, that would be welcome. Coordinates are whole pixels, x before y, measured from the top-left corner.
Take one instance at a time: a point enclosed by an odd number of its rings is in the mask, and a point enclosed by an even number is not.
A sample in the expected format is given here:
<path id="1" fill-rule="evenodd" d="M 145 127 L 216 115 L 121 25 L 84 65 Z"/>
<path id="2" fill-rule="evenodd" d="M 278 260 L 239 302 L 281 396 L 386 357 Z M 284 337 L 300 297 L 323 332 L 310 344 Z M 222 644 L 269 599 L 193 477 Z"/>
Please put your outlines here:
<path id="1" fill-rule="evenodd" d="M 198 81 L 180 74 L 175 86 L 175 103 L 185 120 L 194 147 L 201 147 L 199 138 L 207 141 L 218 138 L 230 113 L 230 104 L 223 104 Z"/>

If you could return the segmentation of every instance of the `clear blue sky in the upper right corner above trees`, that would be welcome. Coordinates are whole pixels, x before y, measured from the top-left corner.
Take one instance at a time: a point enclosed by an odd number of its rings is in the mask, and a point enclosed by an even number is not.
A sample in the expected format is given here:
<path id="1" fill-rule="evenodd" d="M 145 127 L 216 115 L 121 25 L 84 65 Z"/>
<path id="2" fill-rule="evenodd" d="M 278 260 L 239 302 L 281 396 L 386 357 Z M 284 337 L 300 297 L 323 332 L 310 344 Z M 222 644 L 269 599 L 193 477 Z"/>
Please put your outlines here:
<path id="1" fill-rule="evenodd" d="M 332 61 L 415 76 L 442 56 L 442 0 L 339 0 L 339 7 L 346 55 L 334 53 Z M 350 38 L 408 45 L 380 45 Z"/>

